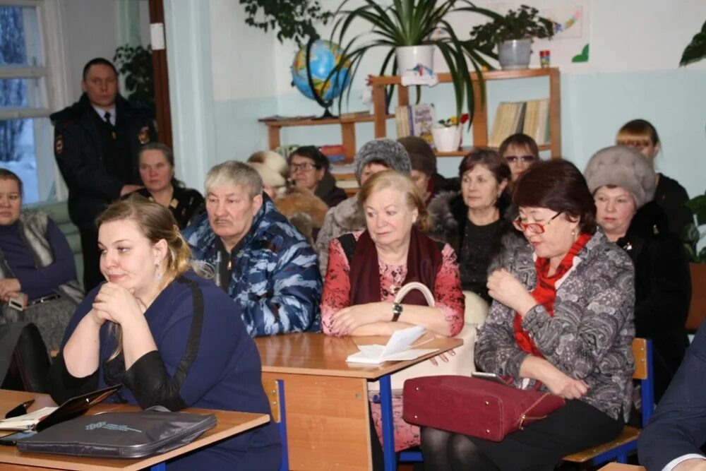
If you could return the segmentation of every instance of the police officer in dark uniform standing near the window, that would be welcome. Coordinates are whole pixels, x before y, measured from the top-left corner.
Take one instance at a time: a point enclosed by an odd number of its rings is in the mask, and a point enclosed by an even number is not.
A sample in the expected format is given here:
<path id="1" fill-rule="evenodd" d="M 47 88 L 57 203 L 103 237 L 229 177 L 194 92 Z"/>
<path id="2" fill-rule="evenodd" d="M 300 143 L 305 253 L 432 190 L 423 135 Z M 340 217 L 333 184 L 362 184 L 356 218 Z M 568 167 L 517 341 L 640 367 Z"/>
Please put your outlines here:
<path id="1" fill-rule="evenodd" d="M 68 186 L 68 213 L 81 237 L 83 286 L 102 280 L 95 218 L 110 203 L 140 189 L 138 151 L 155 139 L 148 109 L 118 93 L 118 73 L 107 59 L 88 61 L 78 102 L 51 115 L 54 156 Z"/>

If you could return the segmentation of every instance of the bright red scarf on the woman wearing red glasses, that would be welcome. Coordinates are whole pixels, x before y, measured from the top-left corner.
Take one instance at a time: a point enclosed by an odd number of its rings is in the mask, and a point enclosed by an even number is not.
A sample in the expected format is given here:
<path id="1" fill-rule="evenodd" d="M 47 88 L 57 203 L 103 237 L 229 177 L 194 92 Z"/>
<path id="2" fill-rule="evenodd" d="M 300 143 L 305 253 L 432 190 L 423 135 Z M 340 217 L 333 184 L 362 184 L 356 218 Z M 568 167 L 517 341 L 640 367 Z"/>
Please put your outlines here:
<path id="1" fill-rule="evenodd" d="M 554 275 L 549 276 L 549 258 L 537 257 L 534 262 L 534 269 L 537 270 L 537 286 L 532 291 L 532 297 L 538 304 L 542 304 L 544 309 L 549 313 L 549 316 L 554 317 L 554 302 L 556 301 L 556 282 L 566 275 L 568 270 L 573 267 L 573 259 L 586 243 L 591 239 L 591 234 L 581 234 L 576 242 L 573 243 L 568 253 L 564 256 L 556 268 Z M 523 352 L 533 354 L 535 357 L 544 358 L 544 355 L 539 352 L 537 345 L 534 345 L 534 340 L 527 333 L 527 330 L 522 328 L 522 316 L 515 313 L 515 342 Z"/>

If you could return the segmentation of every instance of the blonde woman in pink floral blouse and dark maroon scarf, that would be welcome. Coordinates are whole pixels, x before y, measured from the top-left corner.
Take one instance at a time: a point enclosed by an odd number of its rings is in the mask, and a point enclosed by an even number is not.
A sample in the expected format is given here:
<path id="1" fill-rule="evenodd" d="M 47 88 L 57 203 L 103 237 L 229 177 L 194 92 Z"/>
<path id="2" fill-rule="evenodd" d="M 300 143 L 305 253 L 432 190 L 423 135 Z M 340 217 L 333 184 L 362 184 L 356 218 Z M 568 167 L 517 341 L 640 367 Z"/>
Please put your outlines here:
<path id="1" fill-rule="evenodd" d="M 393 170 L 378 172 L 366 180 L 358 198 L 367 229 L 330 243 L 321 299 L 323 332 L 390 335 L 424 326 L 438 335 L 460 333 L 464 296 L 456 256 L 448 244 L 424 234 L 429 217 L 412 179 Z M 409 282 L 428 287 L 435 306 L 428 306 L 419 291 L 394 302 Z M 395 448 L 418 444 L 419 429 L 395 412 Z"/>

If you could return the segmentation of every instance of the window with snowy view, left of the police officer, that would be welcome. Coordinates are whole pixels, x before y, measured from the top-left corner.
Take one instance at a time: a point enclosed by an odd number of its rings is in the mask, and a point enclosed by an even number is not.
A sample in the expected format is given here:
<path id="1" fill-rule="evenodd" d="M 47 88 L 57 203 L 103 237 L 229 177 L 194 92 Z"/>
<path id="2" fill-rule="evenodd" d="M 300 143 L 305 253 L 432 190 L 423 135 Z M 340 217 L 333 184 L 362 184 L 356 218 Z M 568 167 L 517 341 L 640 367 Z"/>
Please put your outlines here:
<path id="1" fill-rule="evenodd" d="M 23 203 L 56 195 L 43 6 L 0 0 L 0 166 L 23 180 Z"/>

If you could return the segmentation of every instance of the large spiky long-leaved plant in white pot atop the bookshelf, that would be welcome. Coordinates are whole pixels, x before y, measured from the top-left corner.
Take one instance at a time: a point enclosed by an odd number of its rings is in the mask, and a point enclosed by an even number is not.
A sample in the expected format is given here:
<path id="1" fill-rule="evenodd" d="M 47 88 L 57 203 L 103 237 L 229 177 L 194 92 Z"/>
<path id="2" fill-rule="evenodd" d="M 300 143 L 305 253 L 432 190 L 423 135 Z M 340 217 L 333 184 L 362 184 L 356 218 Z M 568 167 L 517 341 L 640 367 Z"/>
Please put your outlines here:
<path id="1" fill-rule="evenodd" d="M 376 47 L 389 48 L 380 68 L 379 75 L 390 71 L 397 73 L 395 47 L 433 44 L 441 52 L 452 78 L 456 115 L 461 116 L 463 105 L 469 113 L 469 126 L 473 119 L 474 93 L 467 61 L 472 65 L 479 78 L 481 90 L 484 90 L 482 76 L 483 68 L 492 69 L 483 54 L 497 59 L 492 51 L 481 51 L 468 40 L 460 40 L 452 26 L 446 20 L 449 13 L 468 12 L 480 13 L 490 18 L 501 18 L 498 13 L 486 8 L 479 8 L 468 0 L 393 0 L 390 6 L 381 6 L 375 0 L 364 0 L 364 5 L 352 10 L 345 9 L 349 0 L 344 0 L 334 13 L 337 17 L 331 40 L 341 44 L 342 56 L 350 62 L 351 80 L 355 77 L 361 59 L 370 49 Z M 363 20 L 372 26 L 371 30 L 355 35 L 344 43 L 346 35 L 354 20 Z M 345 44 L 345 45 L 344 45 Z M 482 54 L 481 54 L 482 52 Z M 340 66 L 346 60 L 339 62 Z M 339 67 L 340 67 L 339 66 Z M 337 69 L 330 77 L 335 76 Z M 348 97 L 350 88 L 346 93 Z M 392 88 L 388 89 L 388 99 Z M 485 93 L 481 94 L 483 97 Z M 342 100 L 342 96 L 339 98 Z M 417 87 L 419 100 L 419 87 Z"/>

